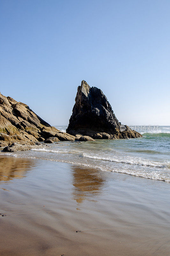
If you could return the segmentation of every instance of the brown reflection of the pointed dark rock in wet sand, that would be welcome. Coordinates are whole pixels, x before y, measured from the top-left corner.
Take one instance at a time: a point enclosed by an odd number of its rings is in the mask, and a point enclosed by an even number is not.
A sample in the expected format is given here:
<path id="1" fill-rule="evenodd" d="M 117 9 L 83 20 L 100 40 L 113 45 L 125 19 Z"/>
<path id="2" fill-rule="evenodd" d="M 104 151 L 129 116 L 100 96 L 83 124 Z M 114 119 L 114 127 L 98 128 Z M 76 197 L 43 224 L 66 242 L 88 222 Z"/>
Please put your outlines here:
<path id="1" fill-rule="evenodd" d="M 100 172 L 92 168 L 72 166 L 74 186 L 73 199 L 78 203 L 86 200 L 94 200 L 104 185 L 104 179 L 100 177 Z"/>

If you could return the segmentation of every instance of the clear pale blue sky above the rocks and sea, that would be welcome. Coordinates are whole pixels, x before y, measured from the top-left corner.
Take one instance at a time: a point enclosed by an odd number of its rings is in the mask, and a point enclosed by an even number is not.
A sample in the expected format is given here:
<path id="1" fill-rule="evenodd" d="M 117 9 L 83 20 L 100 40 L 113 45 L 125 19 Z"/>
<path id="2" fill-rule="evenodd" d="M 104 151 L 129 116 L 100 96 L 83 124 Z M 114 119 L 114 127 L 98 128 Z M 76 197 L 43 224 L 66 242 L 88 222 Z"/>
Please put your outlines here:
<path id="1" fill-rule="evenodd" d="M 122 124 L 170 125 L 169 13 L 169 0 L 1 0 L 0 92 L 68 125 L 85 80 Z"/>

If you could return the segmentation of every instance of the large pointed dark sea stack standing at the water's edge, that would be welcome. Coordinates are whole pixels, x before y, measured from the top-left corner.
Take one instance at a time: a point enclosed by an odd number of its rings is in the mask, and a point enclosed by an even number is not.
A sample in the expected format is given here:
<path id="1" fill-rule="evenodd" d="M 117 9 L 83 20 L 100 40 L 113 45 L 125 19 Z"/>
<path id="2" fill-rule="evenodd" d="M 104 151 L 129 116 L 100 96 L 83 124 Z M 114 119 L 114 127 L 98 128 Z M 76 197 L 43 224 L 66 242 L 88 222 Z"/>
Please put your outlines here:
<path id="1" fill-rule="evenodd" d="M 90 87 L 84 80 L 78 86 L 67 133 L 90 136 L 93 139 L 124 139 L 142 137 L 122 125 L 112 110 L 106 96 L 97 87 Z"/>

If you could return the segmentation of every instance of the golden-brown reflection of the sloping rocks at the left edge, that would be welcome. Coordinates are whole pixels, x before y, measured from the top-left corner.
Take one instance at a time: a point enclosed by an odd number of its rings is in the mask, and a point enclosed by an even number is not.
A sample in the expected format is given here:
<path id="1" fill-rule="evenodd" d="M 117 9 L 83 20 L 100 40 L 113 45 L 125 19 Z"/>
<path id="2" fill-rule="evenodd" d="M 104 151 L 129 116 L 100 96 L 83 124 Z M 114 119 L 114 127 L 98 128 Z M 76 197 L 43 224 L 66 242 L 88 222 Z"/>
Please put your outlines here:
<path id="1" fill-rule="evenodd" d="M 26 176 L 26 172 L 32 167 L 32 159 L 0 156 L 0 181 L 21 179 Z"/>

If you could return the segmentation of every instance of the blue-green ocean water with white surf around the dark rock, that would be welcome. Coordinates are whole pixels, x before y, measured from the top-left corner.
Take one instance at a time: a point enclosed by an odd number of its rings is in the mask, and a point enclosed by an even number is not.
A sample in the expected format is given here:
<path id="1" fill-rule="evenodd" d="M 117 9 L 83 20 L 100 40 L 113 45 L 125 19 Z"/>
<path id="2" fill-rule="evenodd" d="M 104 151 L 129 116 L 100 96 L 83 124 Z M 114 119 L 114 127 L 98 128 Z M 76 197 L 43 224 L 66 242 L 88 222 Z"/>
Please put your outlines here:
<path id="1" fill-rule="evenodd" d="M 129 126 L 143 137 L 81 143 L 61 141 L 49 144 L 49 148 L 4 154 L 85 165 L 170 182 L 170 126 Z M 62 132 L 67 128 L 55 127 Z"/>

